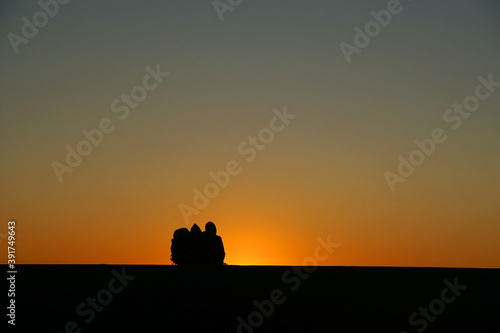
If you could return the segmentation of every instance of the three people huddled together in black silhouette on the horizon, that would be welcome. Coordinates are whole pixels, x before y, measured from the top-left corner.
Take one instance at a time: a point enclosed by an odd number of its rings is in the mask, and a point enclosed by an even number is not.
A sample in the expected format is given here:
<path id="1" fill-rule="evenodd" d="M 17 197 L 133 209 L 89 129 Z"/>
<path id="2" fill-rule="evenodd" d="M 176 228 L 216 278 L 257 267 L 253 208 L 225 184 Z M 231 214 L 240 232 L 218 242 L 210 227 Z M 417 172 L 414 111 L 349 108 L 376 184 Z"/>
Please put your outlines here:
<path id="1" fill-rule="evenodd" d="M 187 228 L 175 230 L 170 250 L 176 265 L 223 265 L 226 256 L 222 238 L 210 221 L 205 224 L 203 232 L 196 223 L 191 231 Z"/>

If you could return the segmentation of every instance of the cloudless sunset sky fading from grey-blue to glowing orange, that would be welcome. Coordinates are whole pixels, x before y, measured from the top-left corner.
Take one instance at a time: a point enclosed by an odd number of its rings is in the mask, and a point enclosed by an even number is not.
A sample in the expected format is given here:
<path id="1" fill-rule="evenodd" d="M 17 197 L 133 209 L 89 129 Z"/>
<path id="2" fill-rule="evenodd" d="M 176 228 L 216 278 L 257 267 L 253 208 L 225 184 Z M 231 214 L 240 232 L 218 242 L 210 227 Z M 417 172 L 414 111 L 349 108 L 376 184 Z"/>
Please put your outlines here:
<path id="1" fill-rule="evenodd" d="M 500 81 L 500 4 L 402 1 L 348 64 L 388 1 L 244 0 L 61 5 L 16 54 L 36 1 L 0 5 L 0 217 L 17 263 L 170 264 L 173 231 L 212 220 L 228 264 L 500 267 L 500 88 L 452 130 L 443 113 Z M 120 120 L 111 103 L 170 75 Z M 273 109 L 297 115 L 247 162 L 238 145 Z M 59 182 L 82 130 L 115 130 Z M 448 139 L 391 192 L 384 173 L 434 128 Z M 230 160 L 242 172 L 186 222 L 179 204 Z M 5 235 L 3 235 L 5 236 Z M 1 238 L 2 248 L 6 239 Z M 2 256 L 2 262 L 5 261 Z"/>

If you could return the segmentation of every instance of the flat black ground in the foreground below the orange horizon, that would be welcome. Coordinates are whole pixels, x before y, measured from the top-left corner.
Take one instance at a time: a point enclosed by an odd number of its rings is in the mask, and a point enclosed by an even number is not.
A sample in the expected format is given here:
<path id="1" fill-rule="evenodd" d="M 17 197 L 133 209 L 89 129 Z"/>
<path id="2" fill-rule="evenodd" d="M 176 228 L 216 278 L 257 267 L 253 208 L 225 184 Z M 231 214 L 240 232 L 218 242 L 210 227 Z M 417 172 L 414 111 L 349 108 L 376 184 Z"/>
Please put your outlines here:
<path id="1" fill-rule="evenodd" d="M 498 269 L 18 265 L 17 271 L 16 325 L 9 332 L 500 331 Z"/>

